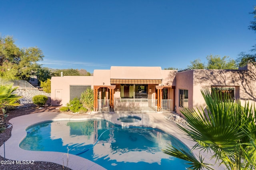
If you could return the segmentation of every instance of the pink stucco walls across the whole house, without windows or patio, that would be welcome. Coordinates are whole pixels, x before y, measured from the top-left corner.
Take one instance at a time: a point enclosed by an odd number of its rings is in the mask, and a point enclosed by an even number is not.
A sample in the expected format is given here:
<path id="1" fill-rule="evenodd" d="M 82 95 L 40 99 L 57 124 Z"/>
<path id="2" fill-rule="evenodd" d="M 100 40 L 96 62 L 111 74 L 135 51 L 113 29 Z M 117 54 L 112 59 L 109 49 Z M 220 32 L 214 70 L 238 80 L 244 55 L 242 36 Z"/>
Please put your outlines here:
<path id="1" fill-rule="evenodd" d="M 251 67 L 247 67 L 251 68 Z M 120 69 L 120 71 L 118 71 Z M 176 111 L 180 113 L 179 90 L 188 90 L 188 108 L 205 107 L 204 98 L 200 92 L 201 89 L 211 89 L 212 86 L 234 87 L 236 99 L 244 101 L 256 101 L 256 79 L 254 70 L 186 70 L 177 72 L 177 70 L 159 70 L 159 67 L 111 67 L 110 70 L 94 70 L 94 76 L 63 76 L 52 77 L 51 79 L 51 98 L 52 105 L 65 106 L 70 101 L 71 85 L 89 85 L 110 86 L 111 78 L 143 78 L 144 79 L 162 79 L 162 84 L 168 88 L 168 98 L 174 99 Z M 146 70 L 146 72 L 145 72 Z M 137 74 L 136 74 L 137 72 Z M 140 74 L 138 74 L 140 73 Z M 152 76 L 150 76 L 152 73 Z M 124 77 L 123 77 L 124 76 Z M 149 99 L 155 99 L 155 85 L 148 85 L 151 92 L 148 92 Z M 175 90 L 173 90 L 175 88 Z M 119 92 L 117 92 L 117 89 Z M 114 99 L 120 98 L 120 85 L 117 84 L 114 89 Z"/>

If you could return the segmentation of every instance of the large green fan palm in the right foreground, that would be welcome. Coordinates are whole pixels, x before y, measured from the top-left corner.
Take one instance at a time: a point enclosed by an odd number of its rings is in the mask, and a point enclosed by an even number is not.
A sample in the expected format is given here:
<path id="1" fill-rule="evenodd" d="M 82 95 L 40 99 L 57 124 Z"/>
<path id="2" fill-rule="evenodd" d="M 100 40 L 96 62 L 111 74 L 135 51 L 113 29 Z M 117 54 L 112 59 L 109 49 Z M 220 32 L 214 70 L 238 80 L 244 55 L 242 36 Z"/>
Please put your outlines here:
<path id="1" fill-rule="evenodd" d="M 240 101 L 232 101 L 227 96 L 222 100 L 221 94 L 201 90 L 206 102 L 203 109 L 182 110 L 188 121 L 188 127 L 178 127 L 196 144 L 192 150 L 199 155 L 186 152 L 168 145 L 163 152 L 177 158 L 190 161 L 190 169 L 213 170 L 202 158 L 201 152 L 210 152 L 215 164 L 224 164 L 228 170 L 256 169 L 256 109 L 246 102 L 242 107 Z"/>

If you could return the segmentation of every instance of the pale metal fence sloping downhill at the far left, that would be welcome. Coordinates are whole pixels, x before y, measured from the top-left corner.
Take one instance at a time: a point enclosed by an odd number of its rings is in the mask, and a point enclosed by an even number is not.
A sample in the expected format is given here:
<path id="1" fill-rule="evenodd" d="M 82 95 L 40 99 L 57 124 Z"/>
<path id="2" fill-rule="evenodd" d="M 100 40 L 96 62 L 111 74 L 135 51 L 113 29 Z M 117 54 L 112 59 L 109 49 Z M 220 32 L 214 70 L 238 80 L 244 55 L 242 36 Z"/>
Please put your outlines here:
<path id="1" fill-rule="evenodd" d="M 30 92 L 32 95 L 45 95 L 47 97 L 51 97 L 50 93 L 44 93 L 39 91 L 37 88 L 32 86 L 29 82 L 25 80 L 6 80 L 0 78 L 0 85 L 7 86 L 12 84 L 12 88 L 18 87 L 18 90 L 27 90 Z"/>

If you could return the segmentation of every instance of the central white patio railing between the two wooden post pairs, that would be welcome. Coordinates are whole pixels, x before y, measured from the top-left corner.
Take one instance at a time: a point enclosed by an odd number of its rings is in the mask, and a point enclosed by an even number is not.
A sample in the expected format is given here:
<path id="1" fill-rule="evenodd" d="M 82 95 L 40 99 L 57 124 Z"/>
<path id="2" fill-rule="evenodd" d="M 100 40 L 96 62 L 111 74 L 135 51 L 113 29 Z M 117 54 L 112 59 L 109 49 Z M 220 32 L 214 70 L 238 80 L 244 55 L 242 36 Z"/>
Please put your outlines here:
<path id="1" fill-rule="evenodd" d="M 114 111 L 122 112 L 156 112 L 157 100 L 119 99 L 114 100 Z"/>

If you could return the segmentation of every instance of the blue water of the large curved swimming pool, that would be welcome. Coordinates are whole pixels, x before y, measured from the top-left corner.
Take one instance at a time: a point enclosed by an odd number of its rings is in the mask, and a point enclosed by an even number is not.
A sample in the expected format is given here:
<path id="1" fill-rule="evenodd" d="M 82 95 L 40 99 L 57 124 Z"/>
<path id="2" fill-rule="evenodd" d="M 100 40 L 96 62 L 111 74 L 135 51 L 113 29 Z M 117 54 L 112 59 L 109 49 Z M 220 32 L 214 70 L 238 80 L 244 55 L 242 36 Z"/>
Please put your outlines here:
<path id="1" fill-rule="evenodd" d="M 164 154 L 167 144 L 188 148 L 178 139 L 146 127 L 121 127 L 105 120 L 49 121 L 26 129 L 25 150 L 75 154 L 118 170 L 186 169 L 186 161 Z"/>

